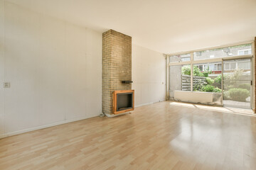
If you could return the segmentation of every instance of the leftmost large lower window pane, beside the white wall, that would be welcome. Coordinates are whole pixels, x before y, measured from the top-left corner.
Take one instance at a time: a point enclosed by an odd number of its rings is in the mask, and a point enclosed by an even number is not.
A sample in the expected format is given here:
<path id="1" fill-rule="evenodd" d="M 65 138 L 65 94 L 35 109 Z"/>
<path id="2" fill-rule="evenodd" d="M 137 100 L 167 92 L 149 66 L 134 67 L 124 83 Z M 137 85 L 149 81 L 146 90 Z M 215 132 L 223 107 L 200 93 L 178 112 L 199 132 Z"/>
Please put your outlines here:
<path id="1" fill-rule="evenodd" d="M 174 99 L 174 91 L 191 90 L 191 66 L 175 65 L 169 68 L 169 96 Z"/>

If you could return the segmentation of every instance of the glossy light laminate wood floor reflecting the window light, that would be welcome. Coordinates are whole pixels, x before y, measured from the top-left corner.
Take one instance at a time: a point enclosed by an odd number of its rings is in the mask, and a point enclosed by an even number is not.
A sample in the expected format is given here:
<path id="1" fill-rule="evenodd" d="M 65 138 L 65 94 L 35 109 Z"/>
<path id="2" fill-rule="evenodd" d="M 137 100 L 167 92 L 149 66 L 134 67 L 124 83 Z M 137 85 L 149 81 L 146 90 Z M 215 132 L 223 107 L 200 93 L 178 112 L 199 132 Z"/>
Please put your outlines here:
<path id="1" fill-rule="evenodd" d="M 0 169 L 256 169 L 256 118 L 154 103 L 1 139 Z"/>

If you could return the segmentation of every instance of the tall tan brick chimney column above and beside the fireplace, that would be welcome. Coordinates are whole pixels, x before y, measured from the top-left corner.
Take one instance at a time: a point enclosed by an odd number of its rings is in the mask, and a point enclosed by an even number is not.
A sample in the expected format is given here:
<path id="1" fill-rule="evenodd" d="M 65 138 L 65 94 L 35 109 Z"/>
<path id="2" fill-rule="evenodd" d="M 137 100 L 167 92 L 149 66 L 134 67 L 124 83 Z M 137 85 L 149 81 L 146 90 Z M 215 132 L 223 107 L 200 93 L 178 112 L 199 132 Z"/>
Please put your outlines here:
<path id="1" fill-rule="evenodd" d="M 132 38 L 108 30 L 102 34 L 102 112 L 112 114 L 112 92 L 130 90 L 132 84 Z"/>

